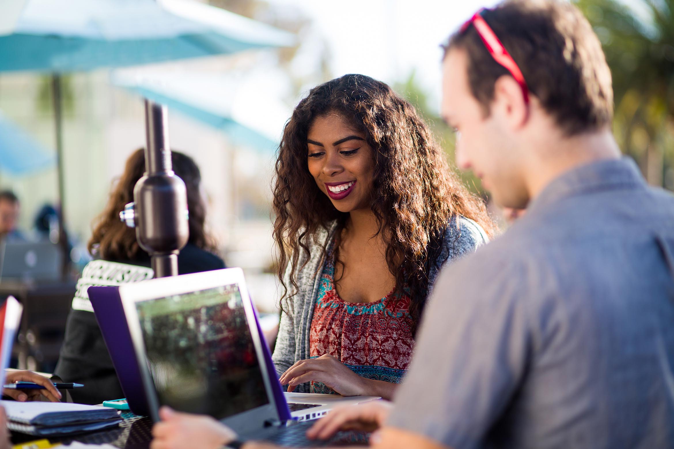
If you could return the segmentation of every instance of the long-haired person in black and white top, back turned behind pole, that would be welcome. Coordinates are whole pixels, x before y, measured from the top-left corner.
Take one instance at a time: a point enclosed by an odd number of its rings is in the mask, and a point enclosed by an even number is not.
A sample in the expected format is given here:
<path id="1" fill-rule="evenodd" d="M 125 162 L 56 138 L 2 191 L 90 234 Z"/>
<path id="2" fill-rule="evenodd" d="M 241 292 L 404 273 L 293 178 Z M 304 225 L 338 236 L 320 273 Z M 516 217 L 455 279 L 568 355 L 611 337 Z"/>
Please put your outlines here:
<path id="1" fill-rule="evenodd" d="M 171 154 L 173 171 L 187 188 L 189 240 L 178 256 L 178 273 L 223 269 L 217 248 L 206 232 L 206 207 L 200 194 L 201 173 L 195 162 L 179 151 Z M 135 229 L 119 219 L 119 212 L 133 201 L 133 188 L 145 172 L 143 149 L 127 160 L 124 173 L 110 195 L 103 213 L 96 219 L 88 248 L 94 260 L 84 267 L 68 316 L 65 340 L 55 373 L 65 382 L 84 384 L 71 390 L 76 403 L 100 404 L 123 397 L 115 368 L 98 328 L 87 289 L 91 285 L 119 285 L 154 276 L 150 254 L 135 237 Z"/>

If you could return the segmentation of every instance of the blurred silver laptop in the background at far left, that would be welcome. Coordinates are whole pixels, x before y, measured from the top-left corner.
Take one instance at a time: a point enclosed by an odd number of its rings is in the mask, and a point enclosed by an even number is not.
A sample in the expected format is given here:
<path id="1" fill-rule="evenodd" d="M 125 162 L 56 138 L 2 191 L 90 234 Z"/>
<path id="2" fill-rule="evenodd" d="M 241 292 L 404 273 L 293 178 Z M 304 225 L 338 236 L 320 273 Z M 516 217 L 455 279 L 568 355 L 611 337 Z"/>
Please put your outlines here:
<path id="1" fill-rule="evenodd" d="M 0 243 L 0 280 L 54 281 L 61 277 L 63 254 L 51 242 Z"/>

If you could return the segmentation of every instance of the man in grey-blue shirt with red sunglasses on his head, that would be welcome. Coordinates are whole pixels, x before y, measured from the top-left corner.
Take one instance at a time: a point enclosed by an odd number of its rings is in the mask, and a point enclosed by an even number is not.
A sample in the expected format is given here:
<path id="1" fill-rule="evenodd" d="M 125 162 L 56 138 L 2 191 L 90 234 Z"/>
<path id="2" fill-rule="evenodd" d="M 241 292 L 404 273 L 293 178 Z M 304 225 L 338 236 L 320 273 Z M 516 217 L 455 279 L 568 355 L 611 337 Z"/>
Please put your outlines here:
<path id="1" fill-rule="evenodd" d="M 674 198 L 620 156 L 590 24 L 566 1 L 480 11 L 445 48 L 442 109 L 460 168 L 527 213 L 440 275 L 394 403 L 336 409 L 308 435 L 378 427 L 371 445 L 387 449 L 674 447 Z M 164 415 L 153 449 L 207 434 L 212 447 L 269 447 Z"/>

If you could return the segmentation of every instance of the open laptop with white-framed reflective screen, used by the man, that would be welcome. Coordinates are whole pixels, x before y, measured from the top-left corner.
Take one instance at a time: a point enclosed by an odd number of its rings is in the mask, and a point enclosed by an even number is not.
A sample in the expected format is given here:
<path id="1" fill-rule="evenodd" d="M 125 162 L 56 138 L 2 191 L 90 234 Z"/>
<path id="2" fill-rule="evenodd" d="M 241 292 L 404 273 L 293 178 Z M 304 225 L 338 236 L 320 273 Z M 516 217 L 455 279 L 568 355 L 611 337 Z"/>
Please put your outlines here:
<path id="1" fill-rule="evenodd" d="M 337 403 L 378 399 L 281 392 L 241 269 L 129 283 L 119 296 L 154 421 L 168 405 L 216 417 L 243 438 L 304 445 L 306 427 L 292 417 L 313 419 Z M 303 409 L 288 413 L 286 396 L 304 399 L 295 401 Z M 338 438 L 363 443 L 362 434 Z"/>

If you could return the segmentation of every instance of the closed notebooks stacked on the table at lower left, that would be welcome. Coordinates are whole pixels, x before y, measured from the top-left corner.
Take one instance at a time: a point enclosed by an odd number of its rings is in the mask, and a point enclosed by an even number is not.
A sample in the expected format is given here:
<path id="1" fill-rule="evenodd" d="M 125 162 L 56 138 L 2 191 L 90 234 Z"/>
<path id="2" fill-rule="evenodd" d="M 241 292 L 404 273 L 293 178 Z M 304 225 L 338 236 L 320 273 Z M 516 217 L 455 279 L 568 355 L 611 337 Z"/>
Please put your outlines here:
<path id="1" fill-rule="evenodd" d="M 98 405 L 0 401 L 7 413 L 7 428 L 34 436 L 63 436 L 113 427 L 120 411 Z"/>

